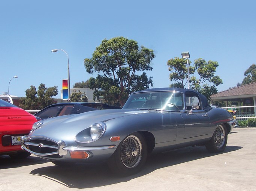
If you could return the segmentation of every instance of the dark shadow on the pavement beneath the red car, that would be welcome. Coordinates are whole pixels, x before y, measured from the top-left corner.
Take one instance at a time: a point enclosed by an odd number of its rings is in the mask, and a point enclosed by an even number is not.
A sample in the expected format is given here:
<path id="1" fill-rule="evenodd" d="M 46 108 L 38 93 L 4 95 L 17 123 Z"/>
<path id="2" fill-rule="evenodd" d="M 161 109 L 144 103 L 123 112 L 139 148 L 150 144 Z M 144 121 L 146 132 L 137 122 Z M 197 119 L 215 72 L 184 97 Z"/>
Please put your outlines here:
<path id="1" fill-rule="evenodd" d="M 47 163 L 49 160 L 41 159 L 36 156 L 29 156 L 25 159 L 13 159 L 8 155 L 0 156 L 0 169 L 16 168 L 21 166 L 30 166 Z"/>

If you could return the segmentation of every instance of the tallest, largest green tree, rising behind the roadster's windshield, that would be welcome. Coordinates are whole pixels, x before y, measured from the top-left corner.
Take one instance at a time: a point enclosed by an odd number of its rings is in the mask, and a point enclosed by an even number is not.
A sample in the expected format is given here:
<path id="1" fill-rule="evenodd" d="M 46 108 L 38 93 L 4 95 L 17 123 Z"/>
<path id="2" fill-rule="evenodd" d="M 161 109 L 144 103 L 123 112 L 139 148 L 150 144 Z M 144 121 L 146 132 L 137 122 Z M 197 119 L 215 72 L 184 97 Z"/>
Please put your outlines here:
<path id="1" fill-rule="evenodd" d="M 152 78 L 145 71 L 152 70 L 150 63 L 154 57 L 153 50 L 139 47 L 135 40 L 124 37 L 103 40 L 92 58 L 84 60 L 88 73 L 103 73 L 89 80 L 90 88 L 95 90 L 94 98 L 104 96 L 106 103 L 123 106 L 132 91 L 153 87 Z"/>

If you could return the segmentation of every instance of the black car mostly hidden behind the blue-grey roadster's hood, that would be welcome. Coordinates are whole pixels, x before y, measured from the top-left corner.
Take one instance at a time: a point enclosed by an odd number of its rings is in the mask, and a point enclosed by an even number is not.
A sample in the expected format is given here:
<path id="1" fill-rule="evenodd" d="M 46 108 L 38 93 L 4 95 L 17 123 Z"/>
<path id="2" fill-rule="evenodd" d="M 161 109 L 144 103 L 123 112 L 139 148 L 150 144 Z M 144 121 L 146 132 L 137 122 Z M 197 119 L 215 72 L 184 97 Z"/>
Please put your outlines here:
<path id="1" fill-rule="evenodd" d="M 34 114 L 41 119 L 53 118 L 62 115 L 71 115 L 102 109 L 121 109 L 121 107 L 109 106 L 104 103 L 55 103 L 45 107 L 41 111 Z"/>

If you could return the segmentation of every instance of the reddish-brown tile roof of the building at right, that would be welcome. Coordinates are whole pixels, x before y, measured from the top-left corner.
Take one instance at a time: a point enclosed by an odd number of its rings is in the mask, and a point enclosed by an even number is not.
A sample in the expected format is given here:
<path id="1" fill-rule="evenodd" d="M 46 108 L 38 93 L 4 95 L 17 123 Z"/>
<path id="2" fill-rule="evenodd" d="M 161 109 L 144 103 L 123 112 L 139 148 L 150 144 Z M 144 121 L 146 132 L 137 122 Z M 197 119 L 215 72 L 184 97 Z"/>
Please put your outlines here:
<path id="1" fill-rule="evenodd" d="M 241 85 L 239 87 L 235 87 L 229 90 L 220 91 L 217 94 L 211 95 L 212 97 L 224 97 L 224 96 L 235 96 L 235 95 L 250 95 L 256 94 L 256 82 Z"/>

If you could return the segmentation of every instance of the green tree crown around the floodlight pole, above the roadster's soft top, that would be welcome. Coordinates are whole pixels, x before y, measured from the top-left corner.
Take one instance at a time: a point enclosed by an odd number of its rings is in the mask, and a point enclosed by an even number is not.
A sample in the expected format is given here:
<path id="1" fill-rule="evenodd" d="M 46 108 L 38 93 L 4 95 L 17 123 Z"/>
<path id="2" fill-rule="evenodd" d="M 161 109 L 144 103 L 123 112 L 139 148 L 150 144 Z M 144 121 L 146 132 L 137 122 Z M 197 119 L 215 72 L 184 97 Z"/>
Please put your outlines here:
<path id="1" fill-rule="evenodd" d="M 169 79 L 175 81 L 170 87 L 184 88 L 187 84 L 187 59 L 175 57 L 168 60 L 167 65 L 171 72 Z M 189 60 L 189 75 L 197 73 L 199 76 L 199 78 L 196 78 L 196 76 L 190 77 L 190 88 L 204 94 L 210 100 L 210 96 L 218 92 L 216 86 L 222 84 L 222 79 L 215 75 L 218 66 L 218 62 L 205 61 L 202 58 L 196 59 L 194 65 L 191 66 Z"/>

